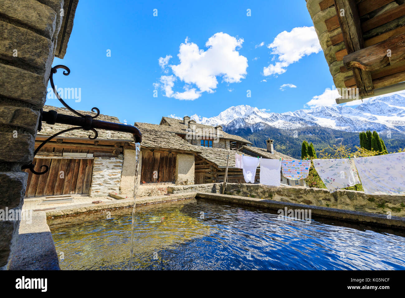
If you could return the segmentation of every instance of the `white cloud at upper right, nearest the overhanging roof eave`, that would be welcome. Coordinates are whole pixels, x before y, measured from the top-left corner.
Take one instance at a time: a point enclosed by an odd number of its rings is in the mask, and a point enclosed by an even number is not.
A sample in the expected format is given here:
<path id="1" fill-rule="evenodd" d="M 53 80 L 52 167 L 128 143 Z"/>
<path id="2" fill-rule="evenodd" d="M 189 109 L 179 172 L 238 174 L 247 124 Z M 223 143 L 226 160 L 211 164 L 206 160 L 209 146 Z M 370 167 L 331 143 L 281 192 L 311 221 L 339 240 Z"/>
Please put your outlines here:
<path id="1" fill-rule="evenodd" d="M 278 61 L 263 67 L 265 76 L 281 75 L 287 71 L 290 64 L 322 50 L 313 27 L 296 27 L 290 32 L 283 31 L 267 47 L 273 49 L 271 54 L 277 55 Z"/>

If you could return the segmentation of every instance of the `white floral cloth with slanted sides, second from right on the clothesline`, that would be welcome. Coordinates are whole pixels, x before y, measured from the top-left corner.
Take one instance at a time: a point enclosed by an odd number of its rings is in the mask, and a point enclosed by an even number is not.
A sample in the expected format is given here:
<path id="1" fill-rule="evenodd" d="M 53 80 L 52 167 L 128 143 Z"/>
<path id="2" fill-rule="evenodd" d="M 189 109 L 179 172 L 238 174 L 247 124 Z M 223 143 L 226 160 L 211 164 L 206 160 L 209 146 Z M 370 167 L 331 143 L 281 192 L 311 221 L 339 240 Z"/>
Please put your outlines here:
<path id="1" fill-rule="evenodd" d="M 314 159 L 313 166 L 331 193 L 360 183 L 353 159 Z"/>

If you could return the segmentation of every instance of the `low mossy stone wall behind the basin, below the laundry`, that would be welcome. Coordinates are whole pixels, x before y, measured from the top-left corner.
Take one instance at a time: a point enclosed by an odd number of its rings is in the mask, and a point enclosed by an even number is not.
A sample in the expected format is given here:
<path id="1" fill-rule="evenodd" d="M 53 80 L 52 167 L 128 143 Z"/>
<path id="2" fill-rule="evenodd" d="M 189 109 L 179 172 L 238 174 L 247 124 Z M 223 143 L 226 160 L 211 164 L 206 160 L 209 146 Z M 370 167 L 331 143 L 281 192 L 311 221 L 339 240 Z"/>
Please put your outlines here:
<path id="1" fill-rule="evenodd" d="M 168 187 L 168 193 L 220 193 L 221 190 L 222 183 Z M 363 191 L 344 189 L 329 193 L 326 189 L 239 183 L 227 183 L 225 194 L 405 217 L 405 196 L 366 195 Z"/>

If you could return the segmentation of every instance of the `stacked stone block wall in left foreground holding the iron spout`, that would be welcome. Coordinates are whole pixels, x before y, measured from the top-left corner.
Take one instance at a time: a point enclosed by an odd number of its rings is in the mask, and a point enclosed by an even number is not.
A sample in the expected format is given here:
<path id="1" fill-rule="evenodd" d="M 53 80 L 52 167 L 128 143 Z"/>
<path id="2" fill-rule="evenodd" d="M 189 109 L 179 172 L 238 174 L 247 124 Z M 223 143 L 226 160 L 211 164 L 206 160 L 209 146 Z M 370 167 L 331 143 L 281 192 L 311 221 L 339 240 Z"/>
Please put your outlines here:
<path id="1" fill-rule="evenodd" d="M 0 0 L 0 208 L 21 208 L 60 31 L 63 0 Z M 0 222 L 0 269 L 17 243 L 19 221 Z"/>

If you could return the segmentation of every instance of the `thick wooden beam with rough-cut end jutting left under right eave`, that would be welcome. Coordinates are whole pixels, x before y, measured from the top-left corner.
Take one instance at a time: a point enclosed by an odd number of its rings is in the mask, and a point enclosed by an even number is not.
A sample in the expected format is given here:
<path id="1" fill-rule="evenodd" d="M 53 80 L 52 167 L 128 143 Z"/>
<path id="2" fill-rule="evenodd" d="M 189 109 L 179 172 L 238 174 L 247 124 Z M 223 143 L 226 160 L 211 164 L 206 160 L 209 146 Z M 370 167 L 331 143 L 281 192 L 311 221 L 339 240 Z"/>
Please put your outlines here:
<path id="1" fill-rule="evenodd" d="M 360 49 L 343 57 L 343 64 L 358 67 L 365 71 L 382 69 L 405 60 L 405 33 L 391 37 L 385 41 Z"/>

